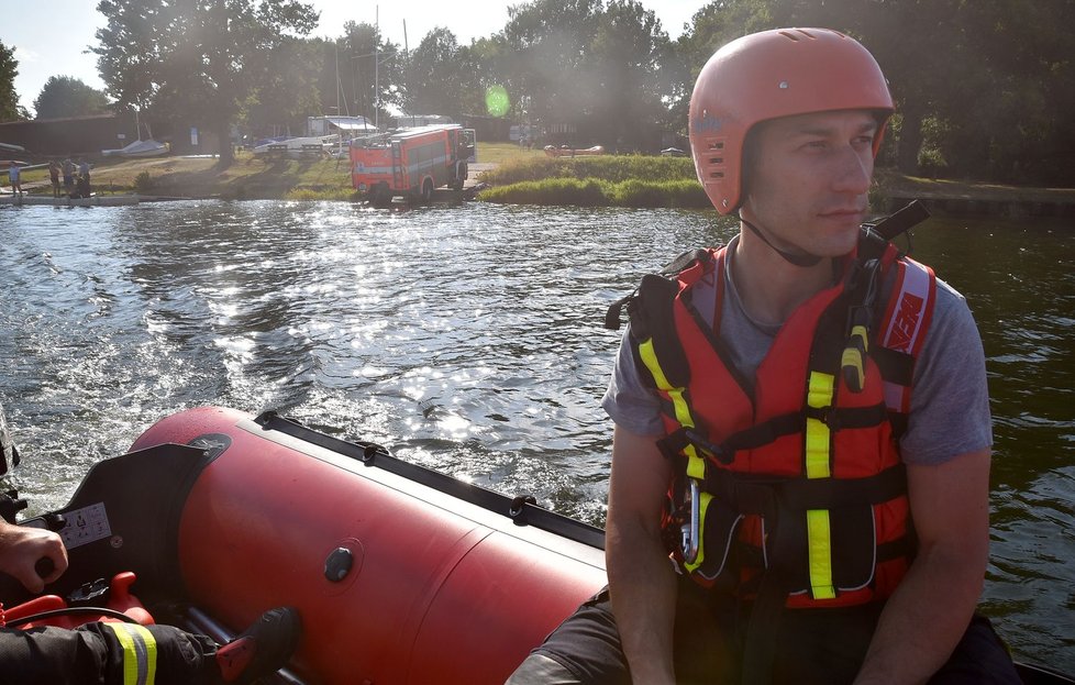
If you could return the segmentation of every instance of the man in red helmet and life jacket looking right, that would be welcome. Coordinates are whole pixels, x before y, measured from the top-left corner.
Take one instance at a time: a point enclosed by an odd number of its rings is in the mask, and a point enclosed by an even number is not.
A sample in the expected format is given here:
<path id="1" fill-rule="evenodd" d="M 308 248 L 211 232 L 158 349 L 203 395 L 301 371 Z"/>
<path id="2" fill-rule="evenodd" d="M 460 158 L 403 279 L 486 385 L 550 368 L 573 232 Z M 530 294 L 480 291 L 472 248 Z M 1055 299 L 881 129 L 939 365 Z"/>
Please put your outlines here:
<path id="1" fill-rule="evenodd" d="M 1020 682 L 974 614 L 977 329 L 888 242 L 896 222 L 861 227 L 891 112 L 877 63 L 833 31 L 749 35 L 702 68 L 695 166 L 741 231 L 628 302 L 603 400 L 609 588 L 512 685 Z"/>

